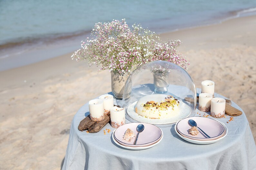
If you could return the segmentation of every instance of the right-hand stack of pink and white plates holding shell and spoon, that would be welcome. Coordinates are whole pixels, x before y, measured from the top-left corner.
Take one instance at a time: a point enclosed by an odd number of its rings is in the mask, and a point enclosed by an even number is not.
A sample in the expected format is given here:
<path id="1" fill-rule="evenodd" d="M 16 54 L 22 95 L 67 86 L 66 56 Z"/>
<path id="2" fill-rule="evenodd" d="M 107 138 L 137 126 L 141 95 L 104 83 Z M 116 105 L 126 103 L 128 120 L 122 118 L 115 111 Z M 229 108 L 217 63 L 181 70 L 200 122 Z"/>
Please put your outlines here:
<path id="1" fill-rule="evenodd" d="M 190 119 L 194 120 L 197 123 L 197 126 L 200 127 L 211 138 L 206 137 L 199 129 L 198 135 L 191 135 L 188 131 L 191 128 L 191 126 L 188 124 Z M 211 118 L 188 117 L 176 123 L 175 132 L 182 139 L 188 142 L 196 144 L 211 144 L 223 139 L 228 133 L 228 128 L 224 123 Z"/>

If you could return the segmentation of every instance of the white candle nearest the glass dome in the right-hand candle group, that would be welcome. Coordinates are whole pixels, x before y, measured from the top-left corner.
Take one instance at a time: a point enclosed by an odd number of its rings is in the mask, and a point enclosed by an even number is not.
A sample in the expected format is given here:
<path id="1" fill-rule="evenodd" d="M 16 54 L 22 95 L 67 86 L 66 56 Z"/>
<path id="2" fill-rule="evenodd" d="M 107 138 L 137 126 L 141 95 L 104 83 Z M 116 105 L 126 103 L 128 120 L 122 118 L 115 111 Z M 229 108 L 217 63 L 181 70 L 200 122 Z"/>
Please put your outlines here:
<path id="1" fill-rule="evenodd" d="M 199 94 L 198 109 L 202 112 L 210 112 L 211 111 L 211 100 L 212 100 L 212 94 L 210 94 L 210 93 Z"/>

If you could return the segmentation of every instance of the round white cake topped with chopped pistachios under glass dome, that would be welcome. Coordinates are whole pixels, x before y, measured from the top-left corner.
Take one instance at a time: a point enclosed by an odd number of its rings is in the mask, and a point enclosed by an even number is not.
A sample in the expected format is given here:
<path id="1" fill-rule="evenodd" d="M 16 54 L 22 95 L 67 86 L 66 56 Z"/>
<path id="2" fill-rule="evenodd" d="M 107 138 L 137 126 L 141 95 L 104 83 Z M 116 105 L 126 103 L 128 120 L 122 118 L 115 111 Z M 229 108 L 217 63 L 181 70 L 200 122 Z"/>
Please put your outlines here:
<path id="1" fill-rule="evenodd" d="M 142 97 L 136 103 L 135 112 L 150 119 L 163 119 L 175 116 L 180 111 L 180 102 L 165 94 L 152 94 Z"/>

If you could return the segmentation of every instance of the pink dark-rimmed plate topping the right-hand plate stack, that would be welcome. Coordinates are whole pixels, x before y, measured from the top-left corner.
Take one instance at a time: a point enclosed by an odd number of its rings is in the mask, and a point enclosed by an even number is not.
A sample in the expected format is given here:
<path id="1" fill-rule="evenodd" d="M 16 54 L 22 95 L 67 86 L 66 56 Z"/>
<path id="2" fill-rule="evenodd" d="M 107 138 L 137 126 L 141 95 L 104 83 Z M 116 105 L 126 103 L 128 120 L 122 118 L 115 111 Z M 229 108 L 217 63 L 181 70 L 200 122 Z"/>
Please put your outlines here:
<path id="1" fill-rule="evenodd" d="M 201 130 L 199 130 L 198 135 L 191 135 L 189 133 L 189 129 L 191 126 L 188 124 L 188 120 L 194 120 L 197 123 L 197 126 L 200 127 L 206 134 L 208 134 L 211 138 L 207 138 Z M 178 132 L 186 138 L 194 139 L 194 140 L 215 140 L 221 137 L 221 135 L 224 132 L 223 125 L 211 118 L 206 117 L 188 117 L 185 119 L 182 119 L 177 123 L 177 130 Z"/>

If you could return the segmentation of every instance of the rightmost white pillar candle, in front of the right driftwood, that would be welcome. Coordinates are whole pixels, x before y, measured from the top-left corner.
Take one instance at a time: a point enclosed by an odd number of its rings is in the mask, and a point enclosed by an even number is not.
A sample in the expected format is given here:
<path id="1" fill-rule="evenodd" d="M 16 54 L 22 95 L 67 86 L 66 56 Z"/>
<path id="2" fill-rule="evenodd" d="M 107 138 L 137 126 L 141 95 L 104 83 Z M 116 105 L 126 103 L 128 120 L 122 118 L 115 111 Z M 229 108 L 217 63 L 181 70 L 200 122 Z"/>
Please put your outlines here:
<path id="1" fill-rule="evenodd" d="M 211 116 L 222 118 L 225 115 L 226 100 L 220 97 L 213 98 L 211 101 Z"/>

